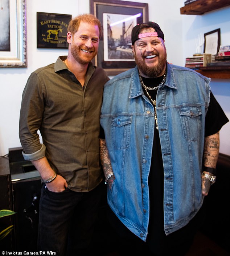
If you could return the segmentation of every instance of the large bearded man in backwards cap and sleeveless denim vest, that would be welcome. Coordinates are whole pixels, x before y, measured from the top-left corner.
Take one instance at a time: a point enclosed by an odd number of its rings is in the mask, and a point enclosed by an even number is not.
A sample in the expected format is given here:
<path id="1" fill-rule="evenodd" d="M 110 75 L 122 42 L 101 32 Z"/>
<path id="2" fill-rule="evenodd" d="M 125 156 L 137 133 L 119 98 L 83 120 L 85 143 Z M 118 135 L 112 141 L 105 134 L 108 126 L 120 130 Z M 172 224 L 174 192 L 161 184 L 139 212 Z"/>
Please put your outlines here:
<path id="1" fill-rule="evenodd" d="M 124 255 L 184 255 L 216 179 L 228 119 L 209 78 L 167 63 L 158 24 L 132 29 L 132 51 L 136 67 L 106 83 L 100 116 L 109 220 Z"/>

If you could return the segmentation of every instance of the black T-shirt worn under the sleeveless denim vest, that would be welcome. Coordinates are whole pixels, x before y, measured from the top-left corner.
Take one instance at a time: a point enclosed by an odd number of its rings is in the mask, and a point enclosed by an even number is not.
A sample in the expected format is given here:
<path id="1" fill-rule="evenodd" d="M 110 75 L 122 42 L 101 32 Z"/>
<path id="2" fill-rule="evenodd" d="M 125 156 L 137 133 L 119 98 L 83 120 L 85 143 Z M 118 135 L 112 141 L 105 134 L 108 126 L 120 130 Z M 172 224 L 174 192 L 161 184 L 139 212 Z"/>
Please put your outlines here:
<path id="1" fill-rule="evenodd" d="M 163 76 L 158 78 L 142 79 L 146 86 L 155 87 L 162 82 Z M 148 97 L 144 88 L 143 91 L 146 97 Z M 149 90 L 148 93 L 150 94 L 152 100 L 156 99 L 157 90 Z M 217 133 L 226 122 L 228 122 L 228 119 L 225 113 L 211 93 L 210 104 L 205 117 L 205 137 Z M 170 253 L 170 250 L 173 251 L 173 247 L 175 250 L 177 250 L 178 246 L 180 246 L 181 251 L 183 251 L 183 247 L 185 247 L 186 251 L 186 246 L 189 246 L 188 243 L 190 243 L 192 240 L 193 233 L 196 232 L 196 228 L 197 225 L 199 225 L 202 213 L 197 214 L 184 228 L 181 228 L 168 236 L 165 235 L 163 212 L 164 169 L 161 155 L 160 138 L 158 130 L 156 129 L 156 125 L 148 184 L 150 218 L 147 243 L 149 247 L 155 253 Z"/>

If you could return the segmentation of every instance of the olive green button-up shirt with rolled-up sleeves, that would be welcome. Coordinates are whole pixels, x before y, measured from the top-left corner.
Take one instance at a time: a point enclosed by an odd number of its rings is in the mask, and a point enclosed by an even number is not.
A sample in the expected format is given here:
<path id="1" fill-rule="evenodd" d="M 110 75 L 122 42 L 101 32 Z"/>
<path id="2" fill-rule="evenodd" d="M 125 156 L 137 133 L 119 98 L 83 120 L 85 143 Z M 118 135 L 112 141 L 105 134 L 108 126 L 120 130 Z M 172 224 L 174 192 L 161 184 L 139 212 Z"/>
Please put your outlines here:
<path id="1" fill-rule="evenodd" d="M 22 94 L 19 136 L 24 158 L 47 157 L 76 192 L 102 181 L 99 163 L 99 115 L 104 83 L 102 68 L 89 64 L 84 87 L 63 63 L 34 71 Z M 42 143 L 37 131 L 40 131 Z"/>

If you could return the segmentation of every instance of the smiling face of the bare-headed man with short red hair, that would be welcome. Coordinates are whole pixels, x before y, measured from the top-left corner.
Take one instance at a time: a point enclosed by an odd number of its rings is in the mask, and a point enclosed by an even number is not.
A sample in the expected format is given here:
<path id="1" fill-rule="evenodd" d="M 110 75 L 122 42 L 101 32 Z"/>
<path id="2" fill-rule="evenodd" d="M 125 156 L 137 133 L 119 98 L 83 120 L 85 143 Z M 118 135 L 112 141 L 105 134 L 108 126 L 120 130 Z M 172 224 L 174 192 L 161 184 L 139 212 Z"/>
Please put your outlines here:
<path id="1" fill-rule="evenodd" d="M 71 55 L 78 63 L 89 63 L 98 53 L 98 25 L 81 21 L 74 35 L 71 32 L 67 33 L 67 42 L 70 44 Z"/>

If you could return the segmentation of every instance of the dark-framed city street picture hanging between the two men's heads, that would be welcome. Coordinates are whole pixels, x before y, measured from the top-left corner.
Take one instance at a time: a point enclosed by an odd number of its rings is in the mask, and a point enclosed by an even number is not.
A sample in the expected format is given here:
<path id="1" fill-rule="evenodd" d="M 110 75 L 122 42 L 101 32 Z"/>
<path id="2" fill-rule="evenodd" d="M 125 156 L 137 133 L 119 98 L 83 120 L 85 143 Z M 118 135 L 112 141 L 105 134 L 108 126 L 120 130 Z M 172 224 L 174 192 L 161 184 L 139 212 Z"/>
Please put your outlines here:
<path id="1" fill-rule="evenodd" d="M 95 66 L 102 67 L 107 75 L 117 75 L 135 67 L 131 31 L 136 24 L 148 21 L 148 4 L 90 0 L 90 13 L 100 20 L 103 30 Z"/>

